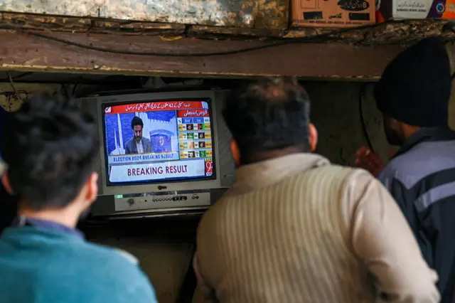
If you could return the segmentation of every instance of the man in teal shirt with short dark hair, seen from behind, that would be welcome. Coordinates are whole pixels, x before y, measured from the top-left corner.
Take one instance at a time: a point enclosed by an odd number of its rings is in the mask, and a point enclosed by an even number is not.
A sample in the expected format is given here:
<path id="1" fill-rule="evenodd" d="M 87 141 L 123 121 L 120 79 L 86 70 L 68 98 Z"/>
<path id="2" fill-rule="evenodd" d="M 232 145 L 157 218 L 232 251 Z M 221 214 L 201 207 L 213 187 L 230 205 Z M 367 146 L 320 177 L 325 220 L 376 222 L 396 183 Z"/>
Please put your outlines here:
<path id="1" fill-rule="evenodd" d="M 6 119 L 4 187 L 17 222 L 0 238 L 0 303 L 156 303 L 127 252 L 75 229 L 97 197 L 92 117 L 62 97 L 37 97 Z"/>

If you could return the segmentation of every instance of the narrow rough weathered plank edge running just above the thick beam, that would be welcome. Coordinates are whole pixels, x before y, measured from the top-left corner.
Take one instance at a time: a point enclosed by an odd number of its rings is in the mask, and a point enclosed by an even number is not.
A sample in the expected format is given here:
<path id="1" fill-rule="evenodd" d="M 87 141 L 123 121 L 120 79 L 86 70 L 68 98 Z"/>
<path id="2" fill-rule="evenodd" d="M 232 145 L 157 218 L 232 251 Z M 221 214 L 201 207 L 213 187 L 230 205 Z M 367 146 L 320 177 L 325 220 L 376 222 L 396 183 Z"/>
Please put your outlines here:
<path id="1" fill-rule="evenodd" d="M 0 0 L 1 1 L 1 0 Z M 390 21 L 363 28 L 245 28 L 228 26 L 198 26 L 179 23 L 154 23 L 109 18 L 49 16 L 36 14 L 0 13 L 0 28 L 36 31 L 69 31 L 72 33 L 109 33 L 115 35 L 185 36 L 211 39 L 299 39 L 330 34 L 331 42 L 409 45 L 424 37 L 438 36 L 448 41 L 455 38 L 453 24 L 446 20 Z"/>

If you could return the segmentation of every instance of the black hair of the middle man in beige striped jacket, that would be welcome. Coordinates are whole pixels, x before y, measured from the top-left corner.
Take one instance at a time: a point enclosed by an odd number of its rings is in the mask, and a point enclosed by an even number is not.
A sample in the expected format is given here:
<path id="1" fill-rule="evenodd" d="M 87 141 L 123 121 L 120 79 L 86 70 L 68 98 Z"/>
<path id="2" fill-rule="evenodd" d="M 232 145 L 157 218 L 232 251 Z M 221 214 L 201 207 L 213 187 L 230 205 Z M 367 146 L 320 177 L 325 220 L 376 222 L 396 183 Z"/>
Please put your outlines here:
<path id="1" fill-rule="evenodd" d="M 309 96 L 294 78 L 260 80 L 231 92 L 223 110 L 242 161 L 262 151 L 309 151 Z"/>

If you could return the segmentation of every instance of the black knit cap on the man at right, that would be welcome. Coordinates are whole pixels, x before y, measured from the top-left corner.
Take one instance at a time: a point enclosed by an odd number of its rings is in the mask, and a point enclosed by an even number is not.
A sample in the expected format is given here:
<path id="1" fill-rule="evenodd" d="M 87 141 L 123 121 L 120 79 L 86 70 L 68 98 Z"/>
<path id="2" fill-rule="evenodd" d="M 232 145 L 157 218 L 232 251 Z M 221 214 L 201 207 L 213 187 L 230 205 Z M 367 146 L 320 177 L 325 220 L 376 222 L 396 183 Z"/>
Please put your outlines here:
<path id="1" fill-rule="evenodd" d="M 387 65 L 375 86 L 379 110 L 415 127 L 446 127 L 451 74 L 440 38 L 424 38 Z"/>

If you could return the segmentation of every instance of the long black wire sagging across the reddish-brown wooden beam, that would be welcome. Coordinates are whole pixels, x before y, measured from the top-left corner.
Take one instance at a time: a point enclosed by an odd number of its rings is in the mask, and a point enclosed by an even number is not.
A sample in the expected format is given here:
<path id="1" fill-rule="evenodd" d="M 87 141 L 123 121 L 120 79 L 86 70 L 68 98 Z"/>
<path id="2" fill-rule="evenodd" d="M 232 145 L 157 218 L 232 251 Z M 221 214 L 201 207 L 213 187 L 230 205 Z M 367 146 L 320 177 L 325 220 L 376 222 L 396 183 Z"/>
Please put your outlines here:
<path id="1" fill-rule="evenodd" d="M 392 21 L 387 21 L 385 23 L 404 23 L 404 22 L 405 21 L 392 20 Z M 68 46 L 75 46 L 77 48 L 85 48 L 87 50 L 96 50 L 96 51 L 99 51 L 102 53 L 116 53 L 116 54 L 121 54 L 121 55 L 159 56 L 159 57 L 211 57 L 211 56 L 217 56 L 217 55 L 234 55 L 237 53 L 247 53 L 247 52 L 250 52 L 253 50 L 262 50 L 264 48 L 284 46 L 284 45 L 291 44 L 291 43 L 321 42 L 321 41 L 326 41 L 327 38 L 330 38 L 333 35 L 340 35 L 341 33 L 348 33 L 351 31 L 361 31 L 361 30 L 368 29 L 368 28 L 375 28 L 378 26 L 383 26 L 385 23 L 370 24 L 370 25 L 366 25 L 366 26 L 358 26 L 358 27 L 353 27 L 353 28 L 343 28 L 341 30 L 333 31 L 330 33 L 322 33 L 322 34 L 317 34 L 317 35 L 313 35 L 313 36 L 306 36 L 303 38 L 295 38 L 295 39 L 289 39 L 289 40 L 284 40 L 284 41 L 277 41 L 274 43 L 264 44 L 262 46 L 252 46 L 249 48 L 238 48 L 235 50 L 225 50 L 225 51 L 220 51 L 220 52 L 208 52 L 208 53 L 164 53 L 164 52 L 137 52 L 137 51 L 133 51 L 133 50 L 117 50 L 117 49 L 112 49 L 112 48 L 100 48 L 97 46 L 90 46 L 90 45 L 86 45 L 83 43 L 68 41 L 68 40 L 65 40 L 62 38 L 43 35 L 42 33 L 36 33 L 36 32 L 31 32 L 31 31 L 24 31 L 24 33 L 27 33 L 30 36 L 35 36 L 37 38 L 43 38 L 43 39 L 47 39 L 49 41 L 63 43 Z M 11 26 L 6 26 L 6 27 L 9 27 L 11 29 Z M 14 29 L 20 30 L 21 28 L 14 28 Z"/>

